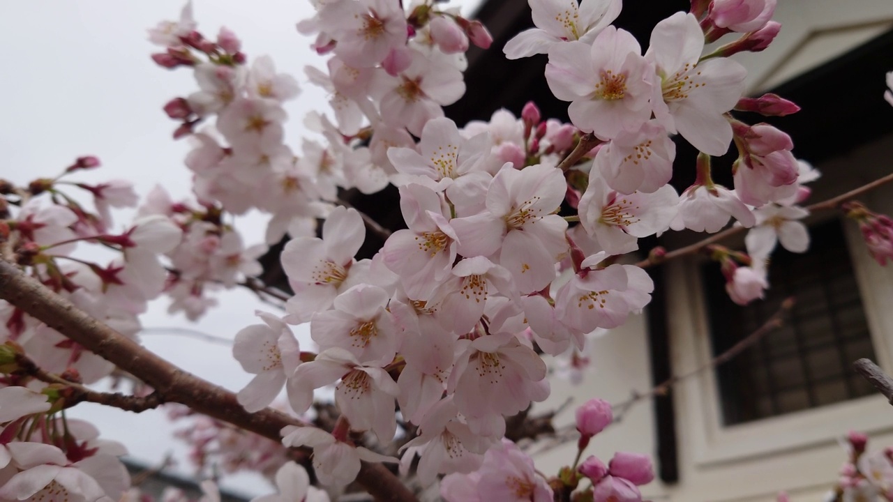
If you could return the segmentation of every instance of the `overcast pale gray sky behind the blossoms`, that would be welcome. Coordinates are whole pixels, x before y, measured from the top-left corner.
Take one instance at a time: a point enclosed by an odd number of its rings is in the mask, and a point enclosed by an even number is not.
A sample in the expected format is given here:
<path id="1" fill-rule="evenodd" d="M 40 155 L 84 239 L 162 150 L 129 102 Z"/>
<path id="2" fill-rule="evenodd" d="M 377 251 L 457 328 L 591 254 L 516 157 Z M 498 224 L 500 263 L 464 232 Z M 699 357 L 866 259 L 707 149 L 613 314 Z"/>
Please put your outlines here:
<path id="1" fill-rule="evenodd" d="M 83 173 L 79 180 L 132 180 L 141 196 L 161 183 L 173 197 L 188 197 L 189 172 L 183 165 L 188 144 L 171 139 L 176 123 L 164 115 L 162 106 L 172 97 L 193 92 L 196 83 L 191 71 L 155 66 L 149 54 L 158 47 L 146 40 L 146 29 L 158 21 L 177 19 L 183 4 L 181 0 L 5 4 L 0 16 L 0 31 L 7 41 L 0 53 L 4 68 L 0 178 L 24 183 L 54 176 L 79 155 L 97 155 L 103 167 Z M 453 4 L 462 4 L 463 12 L 469 13 L 480 0 Z M 305 113 L 313 108 L 325 111 L 321 105 L 326 102 L 320 89 L 307 84 L 303 72 L 305 64 L 322 67 L 323 59 L 309 49 L 310 39 L 295 29 L 296 21 L 313 13 L 309 0 L 196 0 L 195 13 L 198 29 L 206 37 L 214 38 L 226 26 L 242 38 L 249 58 L 270 54 L 279 71 L 301 82 L 301 96 L 286 104 L 287 141 L 299 150 Z M 264 222 L 257 214 L 238 222 L 247 243 L 262 240 Z M 201 322 L 171 317 L 164 299 L 150 305 L 142 322 L 146 328 L 185 327 L 231 339 L 238 327 L 257 322 L 255 309 L 271 310 L 243 290 L 219 298 L 220 307 Z M 305 333 L 303 327 L 296 331 Z M 249 380 L 229 347 L 155 332 L 143 340 L 171 362 L 229 389 L 238 390 Z M 189 472 L 186 448 L 171 439 L 173 428 L 163 412 L 130 414 L 83 405 L 71 414 L 96 423 L 104 438 L 123 442 L 131 456 L 146 463 L 158 463 L 174 452 L 183 459 L 180 471 Z M 234 478 L 225 485 L 247 493 L 269 491 L 252 477 Z"/>

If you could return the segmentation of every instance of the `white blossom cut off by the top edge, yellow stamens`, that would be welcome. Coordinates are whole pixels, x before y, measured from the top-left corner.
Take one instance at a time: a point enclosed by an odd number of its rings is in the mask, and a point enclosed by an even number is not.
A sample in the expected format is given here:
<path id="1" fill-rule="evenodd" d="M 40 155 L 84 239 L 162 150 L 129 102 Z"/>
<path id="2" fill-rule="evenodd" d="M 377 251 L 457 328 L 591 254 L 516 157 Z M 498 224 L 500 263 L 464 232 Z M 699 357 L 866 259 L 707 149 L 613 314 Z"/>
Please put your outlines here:
<path id="1" fill-rule="evenodd" d="M 621 0 L 529 0 L 536 28 L 522 31 L 503 48 L 505 57 L 519 59 L 547 54 L 553 46 L 568 40 L 589 45 L 620 15 Z"/>

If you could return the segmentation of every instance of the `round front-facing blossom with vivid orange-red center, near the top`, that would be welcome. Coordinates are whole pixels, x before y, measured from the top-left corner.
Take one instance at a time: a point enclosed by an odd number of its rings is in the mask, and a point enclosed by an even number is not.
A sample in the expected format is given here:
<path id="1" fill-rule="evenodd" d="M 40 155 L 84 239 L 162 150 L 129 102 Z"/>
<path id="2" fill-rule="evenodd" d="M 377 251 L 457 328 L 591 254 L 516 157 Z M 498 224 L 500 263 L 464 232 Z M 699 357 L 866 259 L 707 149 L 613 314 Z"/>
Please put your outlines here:
<path id="1" fill-rule="evenodd" d="M 613 26 L 591 46 L 569 42 L 549 50 L 546 79 L 555 97 L 572 102 L 573 125 L 607 139 L 651 117 L 654 67 L 641 53 L 629 31 Z"/>

